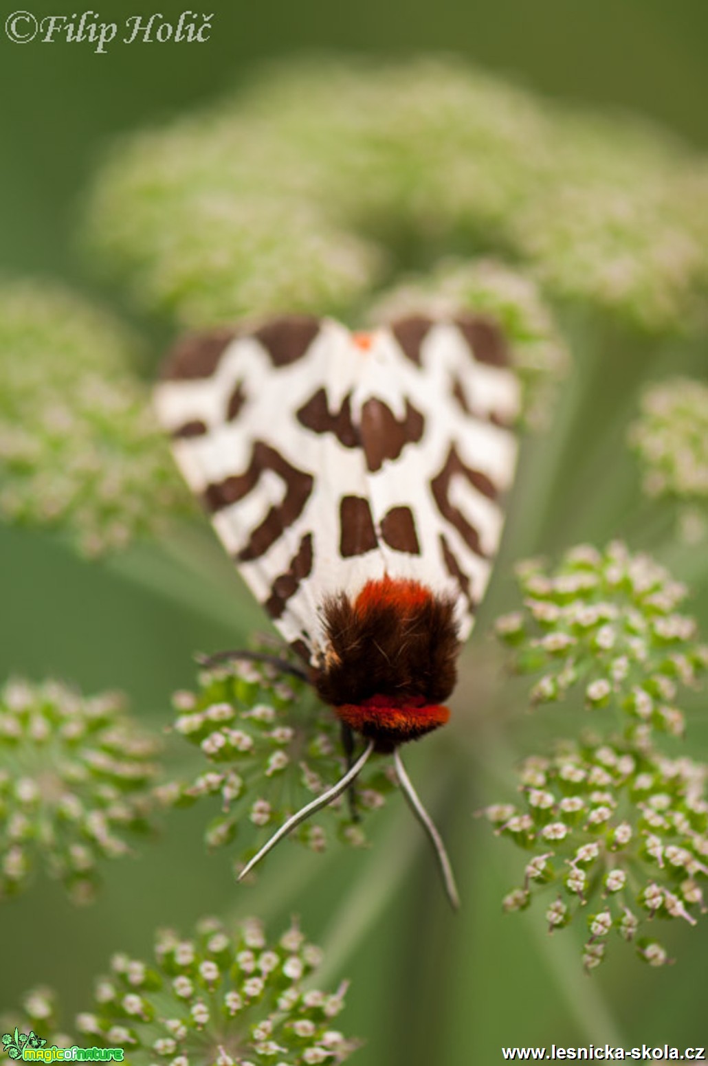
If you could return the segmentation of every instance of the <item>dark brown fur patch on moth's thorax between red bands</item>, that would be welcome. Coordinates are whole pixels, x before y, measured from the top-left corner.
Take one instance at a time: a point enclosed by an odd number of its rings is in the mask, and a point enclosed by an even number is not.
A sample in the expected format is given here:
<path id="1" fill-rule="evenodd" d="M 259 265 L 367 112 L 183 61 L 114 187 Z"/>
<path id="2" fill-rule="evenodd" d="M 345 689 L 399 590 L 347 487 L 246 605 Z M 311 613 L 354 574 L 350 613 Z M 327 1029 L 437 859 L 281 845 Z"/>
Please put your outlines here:
<path id="1" fill-rule="evenodd" d="M 454 689 L 460 649 L 452 599 L 369 603 L 357 610 L 344 594 L 323 604 L 328 647 L 313 683 L 333 707 L 390 696 L 401 706 L 441 704 Z"/>

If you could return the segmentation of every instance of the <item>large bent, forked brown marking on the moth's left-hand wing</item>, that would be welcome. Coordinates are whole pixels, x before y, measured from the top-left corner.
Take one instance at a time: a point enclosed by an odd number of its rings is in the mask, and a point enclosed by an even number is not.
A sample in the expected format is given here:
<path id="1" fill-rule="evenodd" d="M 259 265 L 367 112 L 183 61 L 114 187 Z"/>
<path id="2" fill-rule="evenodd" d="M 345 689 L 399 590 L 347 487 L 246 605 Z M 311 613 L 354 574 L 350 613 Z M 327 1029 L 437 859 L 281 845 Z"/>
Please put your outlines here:
<path id="1" fill-rule="evenodd" d="M 237 559 L 242 563 L 263 555 L 283 531 L 300 517 L 312 491 L 315 479 L 288 463 L 274 448 L 257 440 L 245 473 L 231 474 L 224 481 L 214 482 L 208 485 L 204 492 L 204 502 L 208 511 L 212 513 L 222 511 L 252 492 L 264 470 L 272 470 L 283 480 L 286 495 L 283 503 L 270 508 L 263 521 L 251 534 L 245 548 L 238 553 Z"/>

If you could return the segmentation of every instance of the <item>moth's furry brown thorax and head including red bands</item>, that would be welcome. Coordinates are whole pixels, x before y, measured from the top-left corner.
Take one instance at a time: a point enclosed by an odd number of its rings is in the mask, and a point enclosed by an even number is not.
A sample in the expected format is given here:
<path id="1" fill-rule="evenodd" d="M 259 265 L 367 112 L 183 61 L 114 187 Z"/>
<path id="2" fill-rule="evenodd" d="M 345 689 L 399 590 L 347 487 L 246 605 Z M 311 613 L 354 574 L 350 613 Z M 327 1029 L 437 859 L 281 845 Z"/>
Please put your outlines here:
<path id="1" fill-rule="evenodd" d="M 454 599 L 419 581 L 368 581 L 323 604 L 325 649 L 315 687 L 349 726 L 381 747 L 447 722 L 460 649 Z"/>

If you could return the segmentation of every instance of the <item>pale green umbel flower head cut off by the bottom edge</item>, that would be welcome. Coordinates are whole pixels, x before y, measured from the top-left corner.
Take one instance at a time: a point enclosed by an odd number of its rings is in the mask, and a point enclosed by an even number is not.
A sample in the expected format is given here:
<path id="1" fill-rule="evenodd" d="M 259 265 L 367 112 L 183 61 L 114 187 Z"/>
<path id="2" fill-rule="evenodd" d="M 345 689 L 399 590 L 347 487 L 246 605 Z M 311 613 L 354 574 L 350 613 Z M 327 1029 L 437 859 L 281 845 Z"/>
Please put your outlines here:
<path id="1" fill-rule="evenodd" d="M 256 919 L 236 932 L 204 919 L 189 939 L 163 931 L 155 962 L 113 956 L 79 1039 L 123 1047 L 132 1066 L 341 1063 L 356 1047 L 335 1028 L 347 985 L 303 987 L 320 962 L 294 922 L 274 944 Z"/>

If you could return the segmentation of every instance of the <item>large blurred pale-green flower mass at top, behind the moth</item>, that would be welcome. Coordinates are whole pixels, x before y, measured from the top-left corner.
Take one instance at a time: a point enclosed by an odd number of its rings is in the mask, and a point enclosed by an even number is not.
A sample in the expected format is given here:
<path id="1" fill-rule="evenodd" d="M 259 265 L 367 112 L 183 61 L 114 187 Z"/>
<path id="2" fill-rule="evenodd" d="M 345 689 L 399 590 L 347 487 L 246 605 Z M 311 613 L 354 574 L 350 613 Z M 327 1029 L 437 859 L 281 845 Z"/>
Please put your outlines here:
<path id="1" fill-rule="evenodd" d="M 454 61 L 319 58 L 116 146 L 90 243 L 143 304 L 211 325 L 347 317 L 397 264 L 511 255 L 661 333 L 705 325 L 703 160 Z"/>

